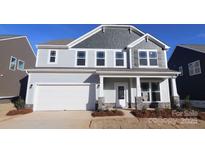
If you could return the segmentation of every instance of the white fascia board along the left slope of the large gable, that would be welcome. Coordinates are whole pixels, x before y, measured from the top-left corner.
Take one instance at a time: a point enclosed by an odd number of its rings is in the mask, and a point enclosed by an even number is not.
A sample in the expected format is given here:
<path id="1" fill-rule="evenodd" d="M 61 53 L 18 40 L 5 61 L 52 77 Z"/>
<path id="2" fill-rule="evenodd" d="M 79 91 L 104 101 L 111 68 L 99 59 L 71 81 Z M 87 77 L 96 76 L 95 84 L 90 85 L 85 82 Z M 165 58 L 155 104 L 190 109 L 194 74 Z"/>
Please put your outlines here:
<path id="1" fill-rule="evenodd" d="M 100 26 L 96 27 L 95 29 L 91 30 L 90 32 L 88 32 L 88 33 L 82 35 L 81 37 L 75 39 L 74 41 L 70 42 L 69 44 L 67 44 L 68 48 L 71 48 L 71 47 L 75 46 L 76 44 L 78 44 L 78 43 L 84 41 L 84 40 L 87 39 L 88 37 L 90 37 L 90 36 L 96 34 L 97 32 L 99 32 L 99 31 L 102 29 L 102 27 L 103 27 L 103 26 L 100 25 Z"/>

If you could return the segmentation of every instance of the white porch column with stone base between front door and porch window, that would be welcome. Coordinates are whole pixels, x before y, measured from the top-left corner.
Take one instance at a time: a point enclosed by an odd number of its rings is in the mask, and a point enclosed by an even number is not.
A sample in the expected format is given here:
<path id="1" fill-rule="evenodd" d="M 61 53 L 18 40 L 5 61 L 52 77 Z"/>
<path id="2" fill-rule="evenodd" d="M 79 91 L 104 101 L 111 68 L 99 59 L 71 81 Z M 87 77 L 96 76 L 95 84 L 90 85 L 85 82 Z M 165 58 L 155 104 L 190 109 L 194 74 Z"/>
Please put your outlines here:
<path id="1" fill-rule="evenodd" d="M 141 97 L 141 83 L 140 77 L 136 77 L 136 98 L 135 98 L 135 108 L 142 109 L 142 97 Z"/>

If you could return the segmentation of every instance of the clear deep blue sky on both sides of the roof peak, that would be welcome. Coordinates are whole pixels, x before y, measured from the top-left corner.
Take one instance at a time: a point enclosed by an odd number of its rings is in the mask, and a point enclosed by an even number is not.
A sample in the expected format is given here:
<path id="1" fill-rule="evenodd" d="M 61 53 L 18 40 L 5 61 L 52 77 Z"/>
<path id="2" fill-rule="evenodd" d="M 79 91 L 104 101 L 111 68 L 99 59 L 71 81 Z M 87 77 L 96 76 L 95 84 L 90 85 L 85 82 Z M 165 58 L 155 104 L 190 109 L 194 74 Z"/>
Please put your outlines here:
<path id="1" fill-rule="evenodd" d="M 170 46 L 170 58 L 178 44 L 205 44 L 205 25 L 132 24 Z M 36 45 L 50 40 L 78 38 L 99 25 L 96 24 L 20 24 L 0 25 L 1 34 L 26 35 L 36 52 Z"/>

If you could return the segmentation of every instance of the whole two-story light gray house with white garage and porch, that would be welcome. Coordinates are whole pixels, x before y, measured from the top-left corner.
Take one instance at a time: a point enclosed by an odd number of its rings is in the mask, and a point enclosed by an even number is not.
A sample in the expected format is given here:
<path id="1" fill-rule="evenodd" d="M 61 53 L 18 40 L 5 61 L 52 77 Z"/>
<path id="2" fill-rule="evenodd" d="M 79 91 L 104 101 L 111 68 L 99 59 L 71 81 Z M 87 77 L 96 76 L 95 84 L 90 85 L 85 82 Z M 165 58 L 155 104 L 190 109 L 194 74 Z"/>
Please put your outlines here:
<path id="1" fill-rule="evenodd" d="M 167 68 L 169 47 L 129 25 L 101 25 L 74 40 L 37 46 L 29 74 L 27 106 L 35 110 L 103 107 L 170 108 L 178 101 L 176 71 Z"/>

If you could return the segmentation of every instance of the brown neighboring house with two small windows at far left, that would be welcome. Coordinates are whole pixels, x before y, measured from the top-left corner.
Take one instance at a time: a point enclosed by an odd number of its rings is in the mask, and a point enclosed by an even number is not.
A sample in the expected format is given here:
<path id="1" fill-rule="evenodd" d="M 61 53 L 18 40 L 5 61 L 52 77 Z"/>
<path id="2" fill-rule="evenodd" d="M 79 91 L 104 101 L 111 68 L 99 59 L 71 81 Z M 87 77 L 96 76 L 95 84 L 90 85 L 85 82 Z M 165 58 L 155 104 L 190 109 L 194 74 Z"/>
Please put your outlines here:
<path id="1" fill-rule="evenodd" d="M 35 60 L 26 36 L 0 35 L 0 99 L 25 97 L 25 69 L 33 68 Z"/>

